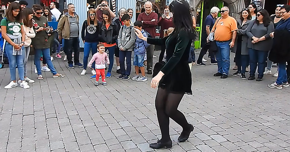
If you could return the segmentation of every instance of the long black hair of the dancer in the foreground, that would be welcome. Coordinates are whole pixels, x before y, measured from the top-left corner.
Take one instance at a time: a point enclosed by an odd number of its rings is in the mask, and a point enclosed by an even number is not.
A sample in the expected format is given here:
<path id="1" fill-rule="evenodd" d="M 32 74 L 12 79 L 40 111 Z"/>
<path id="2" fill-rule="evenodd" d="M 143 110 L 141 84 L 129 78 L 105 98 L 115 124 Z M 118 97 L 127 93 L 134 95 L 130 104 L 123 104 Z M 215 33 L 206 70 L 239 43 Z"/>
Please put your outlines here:
<path id="1" fill-rule="evenodd" d="M 189 3 L 185 0 L 174 0 L 169 5 L 169 8 L 173 12 L 173 23 L 175 25 L 172 34 L 175 35 L 180 31 L 186 31 L 192 33 L 195 37 Z"/>

